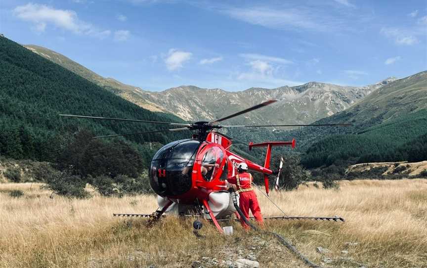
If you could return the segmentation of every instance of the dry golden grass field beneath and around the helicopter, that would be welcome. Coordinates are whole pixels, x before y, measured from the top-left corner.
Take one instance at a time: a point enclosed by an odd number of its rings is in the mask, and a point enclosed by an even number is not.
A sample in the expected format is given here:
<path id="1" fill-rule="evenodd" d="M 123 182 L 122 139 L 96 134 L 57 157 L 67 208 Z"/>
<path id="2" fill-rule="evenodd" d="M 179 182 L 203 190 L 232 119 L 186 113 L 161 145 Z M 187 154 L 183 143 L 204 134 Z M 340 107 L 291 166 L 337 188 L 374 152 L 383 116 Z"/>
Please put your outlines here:
<path id="1" fill-rule="evenodd" d="M 154 196 L 49 198 L 43 184 L 0 184 L 0 267 L 228 267 L 254 259 L 260 267 L 305 267 L 272 237 L 245 232 L 217 234 L 210 223 L 191 232 L 192 220 L 167 218 L 153 228 L 144 219 L 113 213 L 151 213 Z M 313 184 L 271 198 L 292 216 L 335 216 L 345 223 L 266 222 L 310 260 L 324 267 L 427 267 L 427 180 L 341 181 L 339 190 Z M 19 189 L 24 195 L 9 196 Z M 280 212 L 260 193 L 265 216 Z M 346 244 L 352 242 L 354 244 Z M 316 247 L 329 249 L 320 254 Z M 342 253 L 348 251 L 347 254 Z"/>

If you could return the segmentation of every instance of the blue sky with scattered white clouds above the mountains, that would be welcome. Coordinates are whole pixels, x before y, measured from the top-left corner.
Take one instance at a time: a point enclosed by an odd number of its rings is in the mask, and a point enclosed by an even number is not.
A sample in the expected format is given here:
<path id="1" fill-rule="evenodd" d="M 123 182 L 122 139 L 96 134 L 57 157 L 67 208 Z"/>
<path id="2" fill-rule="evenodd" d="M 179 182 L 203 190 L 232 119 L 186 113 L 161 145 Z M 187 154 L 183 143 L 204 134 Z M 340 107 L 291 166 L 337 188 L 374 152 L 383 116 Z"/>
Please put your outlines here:
<path id="1" fill-rule="evenodd" d="M 0 33 L 147 90 L 363 86 L 427 70 L 426 0 L 1 0 Z"/>

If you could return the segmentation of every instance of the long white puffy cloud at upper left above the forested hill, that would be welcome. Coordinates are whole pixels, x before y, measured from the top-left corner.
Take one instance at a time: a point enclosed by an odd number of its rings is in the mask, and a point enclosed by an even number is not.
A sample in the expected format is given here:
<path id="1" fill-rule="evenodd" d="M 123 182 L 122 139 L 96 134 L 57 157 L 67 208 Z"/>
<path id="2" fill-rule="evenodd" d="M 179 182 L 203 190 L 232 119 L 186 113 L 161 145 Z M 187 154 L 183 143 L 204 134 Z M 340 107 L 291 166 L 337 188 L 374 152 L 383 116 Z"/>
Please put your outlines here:
<path id="1" fill-rule="evenodd" d="M 13 13 L 18 18 L 32 22 L 33 28 L 38 32 L 44 32 L 47 25 L 71 31 L 75 34 L 105 38 L 111 34 L 109 30 L 99 30 L 93 25 L 79 20 L 73 10 L 55 9 L 44 4 L 28 3 L 17 6 Z"/>

